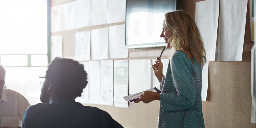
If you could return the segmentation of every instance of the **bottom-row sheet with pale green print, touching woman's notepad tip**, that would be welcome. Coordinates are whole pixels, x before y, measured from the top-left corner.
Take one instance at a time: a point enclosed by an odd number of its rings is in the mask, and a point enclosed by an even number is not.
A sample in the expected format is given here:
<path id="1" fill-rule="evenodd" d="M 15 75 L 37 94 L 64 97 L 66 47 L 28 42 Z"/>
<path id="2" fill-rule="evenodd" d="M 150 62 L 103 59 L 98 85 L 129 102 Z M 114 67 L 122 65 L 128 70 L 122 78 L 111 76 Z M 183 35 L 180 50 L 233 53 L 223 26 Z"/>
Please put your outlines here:
<path id="1" fill-rule="evenodd" d="M 129 108 L 123 99 L 128 95 L 128 60 L 114 60 L 114 105 Z"/>

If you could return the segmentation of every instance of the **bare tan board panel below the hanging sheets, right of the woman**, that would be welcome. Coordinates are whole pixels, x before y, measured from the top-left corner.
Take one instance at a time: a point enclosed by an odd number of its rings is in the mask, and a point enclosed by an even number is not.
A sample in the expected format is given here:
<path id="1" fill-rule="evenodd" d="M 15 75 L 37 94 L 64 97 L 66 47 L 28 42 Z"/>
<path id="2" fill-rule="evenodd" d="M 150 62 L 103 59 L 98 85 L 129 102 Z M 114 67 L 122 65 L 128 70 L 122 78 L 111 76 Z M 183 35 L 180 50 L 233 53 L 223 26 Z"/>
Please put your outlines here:
<path id="1" fill-rule="evenodd" d="M 209 62 L 207 127 L 251 124 L 250 62 Z"/>

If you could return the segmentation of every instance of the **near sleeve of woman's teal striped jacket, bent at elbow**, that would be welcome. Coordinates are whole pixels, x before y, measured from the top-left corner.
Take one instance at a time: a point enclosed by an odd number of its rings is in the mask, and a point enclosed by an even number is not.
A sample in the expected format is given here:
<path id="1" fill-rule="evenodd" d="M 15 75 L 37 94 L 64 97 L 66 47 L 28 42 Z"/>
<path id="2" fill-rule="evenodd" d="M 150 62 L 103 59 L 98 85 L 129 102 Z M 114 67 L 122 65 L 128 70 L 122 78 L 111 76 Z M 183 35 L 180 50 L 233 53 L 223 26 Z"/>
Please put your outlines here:
<path id="1" fill-rule="evenodd" d="M 162 110 L 165 112 L 191 108 L 196 101 L 196 89 L 190 60 L 184 52 L 176 51 L 170 66 L 176 92 L 160 94 Z"/>

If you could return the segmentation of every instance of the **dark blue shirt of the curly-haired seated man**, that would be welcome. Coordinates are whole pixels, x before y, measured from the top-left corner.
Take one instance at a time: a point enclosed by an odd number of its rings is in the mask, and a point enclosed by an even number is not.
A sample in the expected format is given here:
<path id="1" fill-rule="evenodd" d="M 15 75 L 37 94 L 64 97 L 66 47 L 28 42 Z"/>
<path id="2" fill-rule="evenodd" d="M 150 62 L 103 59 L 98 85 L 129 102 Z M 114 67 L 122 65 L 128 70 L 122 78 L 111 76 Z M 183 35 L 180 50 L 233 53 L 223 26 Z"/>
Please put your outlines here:
<path id="1" fill-rule="evenodd" d="M 50 104 L 29 106 L 23 118 L 22 128 L 108 128 L 122 127 L 111 116 L 96 107 L 83 106 L 74 99 L 58 98 Z"/>

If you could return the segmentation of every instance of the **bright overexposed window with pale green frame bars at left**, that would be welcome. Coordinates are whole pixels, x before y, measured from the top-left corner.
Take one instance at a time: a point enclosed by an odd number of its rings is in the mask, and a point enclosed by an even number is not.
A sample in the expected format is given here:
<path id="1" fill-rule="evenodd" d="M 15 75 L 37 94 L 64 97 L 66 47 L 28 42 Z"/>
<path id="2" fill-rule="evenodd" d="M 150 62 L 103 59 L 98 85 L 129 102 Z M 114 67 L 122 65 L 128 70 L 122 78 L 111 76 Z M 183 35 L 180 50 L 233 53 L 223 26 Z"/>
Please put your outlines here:
<path id="1" fill-rule="evenodd" d="M 0 62 L 6 69 L 7 89 L 38 103 L 39 76 L 48 64 L 47 1 L 12 0 L 0 2 Z"/>

